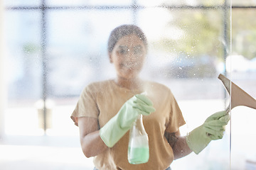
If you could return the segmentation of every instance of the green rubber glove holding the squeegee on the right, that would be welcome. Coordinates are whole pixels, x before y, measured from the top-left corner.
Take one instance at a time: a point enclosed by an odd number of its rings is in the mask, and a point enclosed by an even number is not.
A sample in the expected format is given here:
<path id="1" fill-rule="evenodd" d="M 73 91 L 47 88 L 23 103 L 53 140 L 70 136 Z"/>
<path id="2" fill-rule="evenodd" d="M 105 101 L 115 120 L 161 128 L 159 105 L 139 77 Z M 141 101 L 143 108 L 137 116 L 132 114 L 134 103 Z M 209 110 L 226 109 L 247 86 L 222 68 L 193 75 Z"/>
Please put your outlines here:
<path id="1" fill-rule="evenodd" d="M 199 154 L 211 140 L 219 140 L 223 138 L 225 125 L 228 124 L 230 115 L 226 111 L 220 111 L 210 115 L 203 125 L 192 130 L 186 136 L 188 147 Z"/>

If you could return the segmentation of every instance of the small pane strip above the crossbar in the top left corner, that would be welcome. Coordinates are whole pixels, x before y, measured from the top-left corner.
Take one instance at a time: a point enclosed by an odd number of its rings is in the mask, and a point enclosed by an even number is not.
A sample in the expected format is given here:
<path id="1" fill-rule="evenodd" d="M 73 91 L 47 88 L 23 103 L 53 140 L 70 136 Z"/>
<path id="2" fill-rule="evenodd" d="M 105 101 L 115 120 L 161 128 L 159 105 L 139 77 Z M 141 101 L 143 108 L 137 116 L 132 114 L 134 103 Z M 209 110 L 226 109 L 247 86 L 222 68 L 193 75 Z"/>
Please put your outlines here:
<path id="1" fill-rule="evenodd" d="M 4 5 L 11 6 L 39 6 L 41 4 L 41 0 L 4 0 Z"/>

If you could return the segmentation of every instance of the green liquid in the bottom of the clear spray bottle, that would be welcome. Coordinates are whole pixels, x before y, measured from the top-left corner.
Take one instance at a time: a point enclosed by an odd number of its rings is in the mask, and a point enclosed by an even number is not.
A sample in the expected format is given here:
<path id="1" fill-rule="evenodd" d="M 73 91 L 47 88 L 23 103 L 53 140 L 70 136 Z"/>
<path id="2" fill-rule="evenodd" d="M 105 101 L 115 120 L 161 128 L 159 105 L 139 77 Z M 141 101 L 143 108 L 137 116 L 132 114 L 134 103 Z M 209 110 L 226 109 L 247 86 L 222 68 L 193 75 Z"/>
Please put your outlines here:
<path id="1" fill-rule="evenodd" d="M 143 164 L 149 161 L 149 147 L 129 147 L 128 161 L 130 164 Z"/>

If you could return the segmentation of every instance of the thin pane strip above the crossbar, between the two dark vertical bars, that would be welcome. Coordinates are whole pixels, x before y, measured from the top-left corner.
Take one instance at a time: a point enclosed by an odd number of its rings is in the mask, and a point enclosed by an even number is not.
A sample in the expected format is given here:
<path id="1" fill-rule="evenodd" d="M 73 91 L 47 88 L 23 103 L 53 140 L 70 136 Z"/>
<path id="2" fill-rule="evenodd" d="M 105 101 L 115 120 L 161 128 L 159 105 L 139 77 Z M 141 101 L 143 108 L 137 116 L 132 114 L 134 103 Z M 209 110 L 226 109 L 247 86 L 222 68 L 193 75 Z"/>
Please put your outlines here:
<path id="1" fill-rule="evenodd" d="M 111 1 L 101 1 L 101 0 L 94 0 L 94 1 L 83 1 L 83 0 L 46 0 L 46 4 L 48 6 L 124 6 L 132 4 L 132 0 L 111 0 Z"/>

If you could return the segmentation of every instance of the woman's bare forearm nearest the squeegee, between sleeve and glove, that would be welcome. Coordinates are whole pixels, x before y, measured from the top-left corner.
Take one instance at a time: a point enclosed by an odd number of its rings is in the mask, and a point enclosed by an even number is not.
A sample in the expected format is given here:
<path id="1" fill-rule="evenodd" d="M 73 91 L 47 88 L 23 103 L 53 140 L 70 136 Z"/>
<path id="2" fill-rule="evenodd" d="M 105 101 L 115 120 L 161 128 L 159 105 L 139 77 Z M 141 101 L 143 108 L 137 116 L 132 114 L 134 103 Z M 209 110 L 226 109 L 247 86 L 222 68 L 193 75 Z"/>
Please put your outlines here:
<path id="1" fill-rule="evenodd" d="M 185 157 L 192 152 L 186 143 L 186 137 L 181 137 L 179 131 L 173 133 L 165 132 L 164 136 L 174 151 L 174 159 Z"/>

